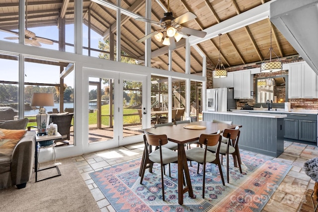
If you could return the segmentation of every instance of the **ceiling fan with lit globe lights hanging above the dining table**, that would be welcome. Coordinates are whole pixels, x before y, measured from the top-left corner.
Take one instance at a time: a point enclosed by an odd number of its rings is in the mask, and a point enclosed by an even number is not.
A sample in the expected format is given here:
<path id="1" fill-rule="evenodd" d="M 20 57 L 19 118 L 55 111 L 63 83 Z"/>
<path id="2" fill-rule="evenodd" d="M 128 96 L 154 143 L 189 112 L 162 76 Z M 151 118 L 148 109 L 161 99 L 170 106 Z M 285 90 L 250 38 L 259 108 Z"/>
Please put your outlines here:
<path id="1" fill-rule="evenodd" d="M 181 26 L 182 23 L 185 23 L 189 20 L 195 19 L 197 16 L 192 12 L 186 12 L 179 17 L 173 17 L 172 12 L 170 12 L 169 8 L 169 0 L 168 0 L 168 12 L 163 13 L 164 17 L 159 21 L 154 21 L 146 18 L 136 18 L 135 20 L 144 21 L 153 24 L 154 26 L 159 27 L 160 29 L 146 35 L 145 37 L 137 40 L 137 42 L 141 43 L 152 36 L 155 36 L 155 39 L 162 44 L 169 46 L 171 50 L 175 49 L 175 41 L 178 42 L 183 35 L 194 35 L 200 38 L 204 38 L 207 34 L 206 32 L 187 28 Z M 175 40 L 174 40 L 175 39 Z"/>

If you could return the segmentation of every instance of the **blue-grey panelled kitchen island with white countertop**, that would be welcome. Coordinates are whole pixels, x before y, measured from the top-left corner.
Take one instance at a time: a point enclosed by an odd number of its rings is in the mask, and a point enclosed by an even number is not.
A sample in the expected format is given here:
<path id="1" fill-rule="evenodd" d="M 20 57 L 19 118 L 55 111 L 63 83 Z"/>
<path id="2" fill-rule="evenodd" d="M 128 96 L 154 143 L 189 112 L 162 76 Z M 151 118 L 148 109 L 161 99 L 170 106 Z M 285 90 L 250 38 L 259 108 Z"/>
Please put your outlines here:
<path id="1" fill-rule="evenodd" d="M 240 128 L 239 148 L 278 157 L 284 151 L 284 114 L 204 111 L 203 121 L 232 121 Z M 223 130 L 223 129 L 222 129 Z"/>

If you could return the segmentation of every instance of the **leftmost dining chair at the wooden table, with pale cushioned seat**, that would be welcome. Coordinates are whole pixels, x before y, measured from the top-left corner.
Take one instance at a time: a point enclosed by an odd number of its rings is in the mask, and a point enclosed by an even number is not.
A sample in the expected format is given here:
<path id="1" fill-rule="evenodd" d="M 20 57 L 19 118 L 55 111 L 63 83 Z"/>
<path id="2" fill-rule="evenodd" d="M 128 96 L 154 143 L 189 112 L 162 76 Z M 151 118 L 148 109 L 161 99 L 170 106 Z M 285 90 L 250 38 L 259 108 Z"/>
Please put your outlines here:
<path id="1" fill-rule="evenodd" d="M 143 179 L 145 175 L 145 170 L 150 168 L 150 172 L 152 172 L 152 167 L 154 163 L 160 163 L 160 171 L 161 171 L 161 189 L 162 189 L 162 200 L 164 201 L 164 183 L 163 183 L 163 169 L 164 165 L 170 164 L 172 162 L 177 163 L 178 154 L 177 152 L 163 148 L 163 145 L 168 142 L 166 135 L 152 135 L 145 131 L 144 135 L 144 143 L 145 143 L 145 157 L 142 162 L 142 173 L 140 184 L 143 184 Z M 158 149 L 152 151 L 152 146 L 159 146 Z M 147 166 L 147 164 L 149 164 Z"/>

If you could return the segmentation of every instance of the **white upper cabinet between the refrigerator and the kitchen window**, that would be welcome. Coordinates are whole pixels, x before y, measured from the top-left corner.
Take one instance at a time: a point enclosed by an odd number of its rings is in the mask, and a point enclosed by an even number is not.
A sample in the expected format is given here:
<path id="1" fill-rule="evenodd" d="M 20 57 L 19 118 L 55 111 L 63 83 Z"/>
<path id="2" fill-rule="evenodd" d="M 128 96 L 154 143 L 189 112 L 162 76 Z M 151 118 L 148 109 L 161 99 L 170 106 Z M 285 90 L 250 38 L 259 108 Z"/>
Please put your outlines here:
<path id="1" fill-rule="evenodd" d="M 253 90 L 253 75 L 250 71 L 235 71 L 234 72 L 234 98 L 235 99 L 250 99 L 250 91 Z"/>

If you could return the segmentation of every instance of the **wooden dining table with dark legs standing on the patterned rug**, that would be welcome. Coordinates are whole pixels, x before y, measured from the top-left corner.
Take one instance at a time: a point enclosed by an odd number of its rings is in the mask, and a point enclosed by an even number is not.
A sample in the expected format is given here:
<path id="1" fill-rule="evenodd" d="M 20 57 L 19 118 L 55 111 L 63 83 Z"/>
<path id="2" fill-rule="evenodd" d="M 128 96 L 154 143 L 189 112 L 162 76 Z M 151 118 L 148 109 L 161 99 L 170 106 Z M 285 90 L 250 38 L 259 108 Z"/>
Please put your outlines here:
<path id="1" fill-rule="evenodd" d="M 197 128 L 200 126 L 205 127 L 203 130 L 185 129 L 187 125 L 194 125 Z M 169 141 L 173 141 L 178 144 L 178 203 L 183 205 L 183 194 L 189 192 L 189 197 L 193 198 L 193 190 L 190 180 L 190 174 L 187 164 L 187 159 L 184 150 L 184 144 L 196 141 L 199 139 L 201 134 L 214 134 L 218 130 L 223 132 L 224 129 L 234 129 L 237 125 L 228 125 L 223 123 L 213 122 L 191 122 L 185 124 L 178 124 L 173 126 L 162 126 L 158 128 L 144 129 L 144 132 L 151 133 L 154 135 L 166 135 Z M 241 126 L 240 126 L 241 127 Z M 183 171 L 185 174 L 186 186 L 183 187 Z"/>

